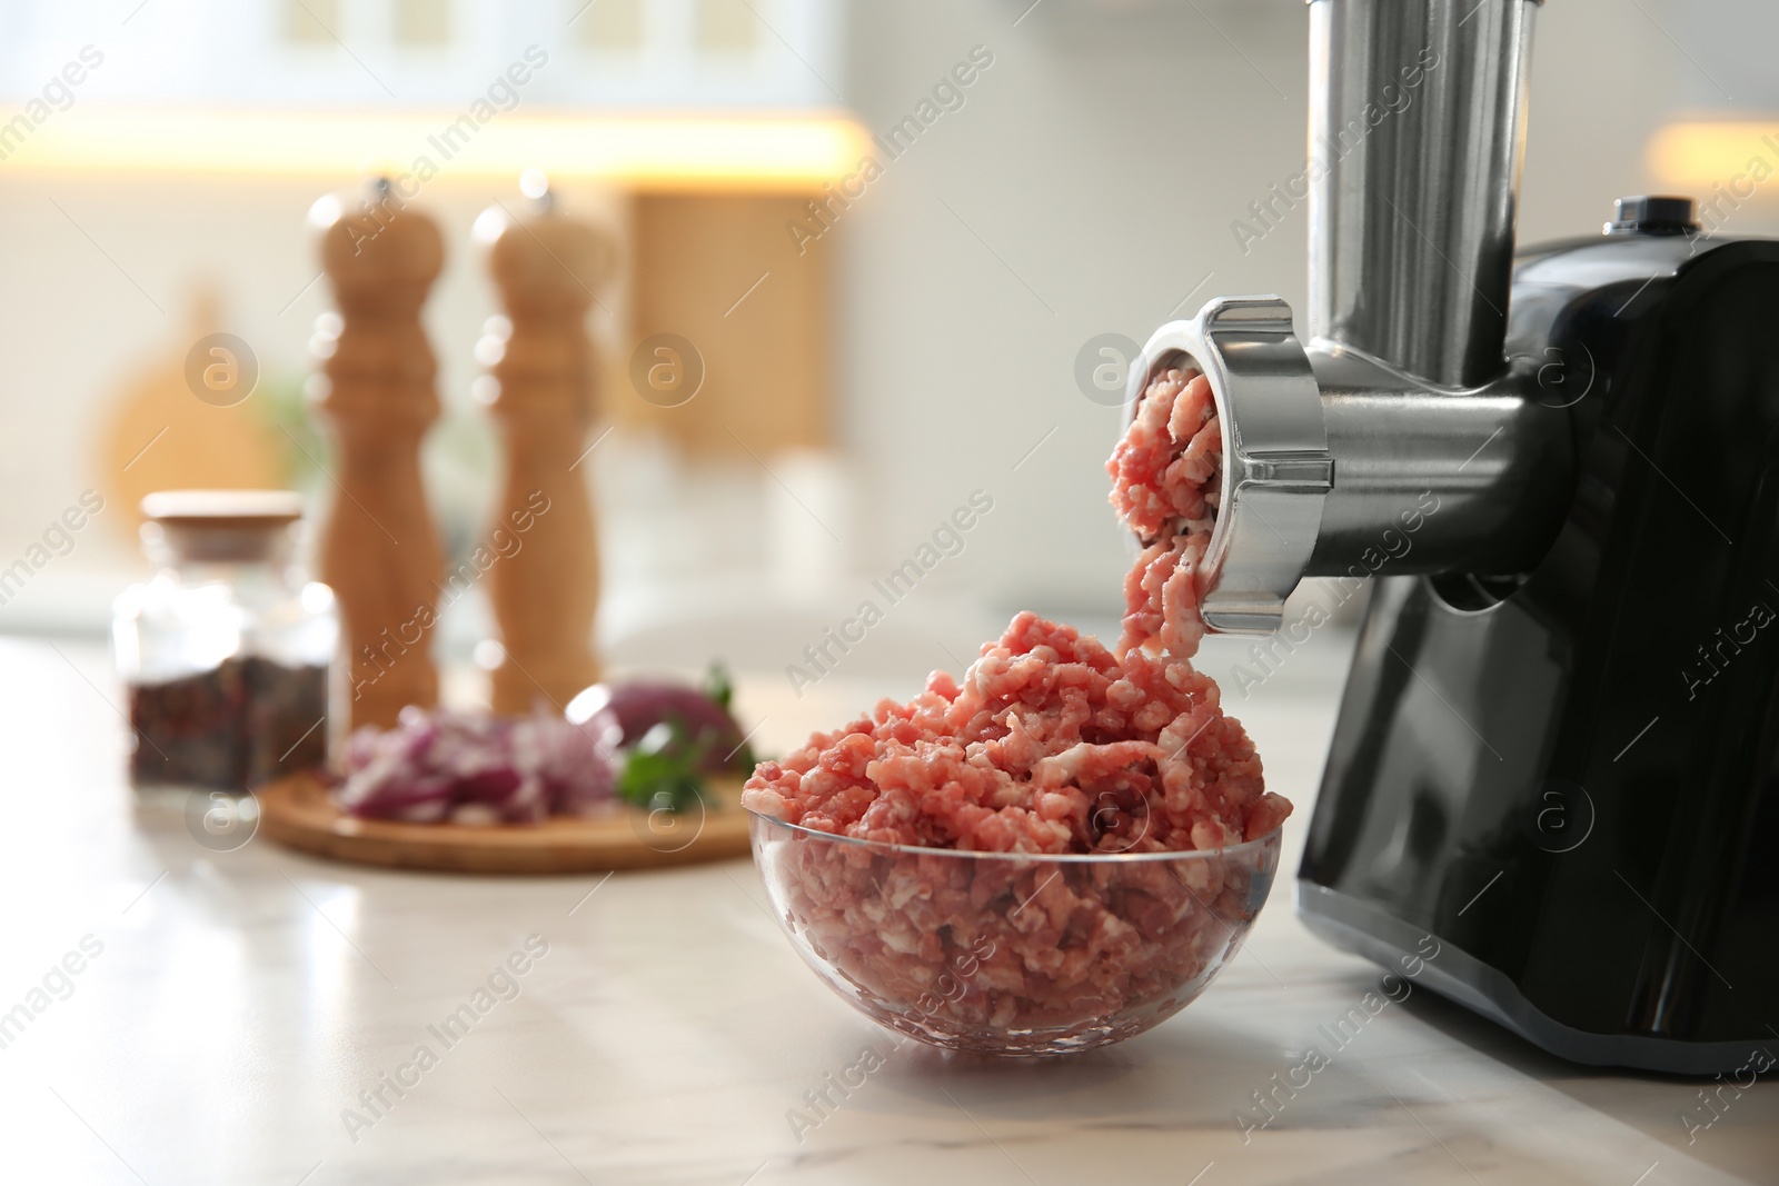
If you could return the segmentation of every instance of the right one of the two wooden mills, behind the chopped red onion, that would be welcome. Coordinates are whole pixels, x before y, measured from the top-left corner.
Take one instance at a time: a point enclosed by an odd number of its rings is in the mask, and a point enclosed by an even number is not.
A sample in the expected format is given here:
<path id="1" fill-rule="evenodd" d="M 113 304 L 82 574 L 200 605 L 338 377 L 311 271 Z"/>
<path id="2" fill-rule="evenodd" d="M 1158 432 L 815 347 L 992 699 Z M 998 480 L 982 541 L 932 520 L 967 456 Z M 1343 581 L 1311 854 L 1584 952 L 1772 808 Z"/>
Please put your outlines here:
<path id="1" fill-rule="evenodd" d="M 475 222 L 505 317 L 477 347 L 489 366 L 484 398 L 505 436 L 505 480 L 493 530 L 519 541 L 489 571 L 503 654 L 493 672 L 496 713 L 557 711 L 600 677 L 592 619 L 600 553 L 585 450 L 596 357 L 587 309 L 612 272 L 616 244 L 564 217 L 541 174 L 521 181 L 528 208 L 500 203 Z"/>

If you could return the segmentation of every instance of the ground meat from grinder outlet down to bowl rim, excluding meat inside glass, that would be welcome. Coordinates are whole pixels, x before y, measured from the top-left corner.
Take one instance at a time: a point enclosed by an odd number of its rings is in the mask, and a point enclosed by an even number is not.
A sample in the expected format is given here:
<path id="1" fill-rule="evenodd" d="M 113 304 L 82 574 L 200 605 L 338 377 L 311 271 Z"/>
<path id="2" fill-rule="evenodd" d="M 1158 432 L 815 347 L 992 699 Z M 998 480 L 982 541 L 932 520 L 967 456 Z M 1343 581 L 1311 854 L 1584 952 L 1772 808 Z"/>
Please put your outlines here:
<path id="1" fill-rule="evenodd" d="M 1112 505 L 1147 542 L 1124 581 L 1117 653 L 1021 613 L 959 688 L 939 672 L 909 704 L 763 763 L 744 804 L 806 827 L 930 848 L 1220 848 L 1277 827 L 1242 725 L 1190 656 L 1204 635 L 1201 562 L 1222 482 L 1210 381 L 1158 373 L 1107 462 Z"/>

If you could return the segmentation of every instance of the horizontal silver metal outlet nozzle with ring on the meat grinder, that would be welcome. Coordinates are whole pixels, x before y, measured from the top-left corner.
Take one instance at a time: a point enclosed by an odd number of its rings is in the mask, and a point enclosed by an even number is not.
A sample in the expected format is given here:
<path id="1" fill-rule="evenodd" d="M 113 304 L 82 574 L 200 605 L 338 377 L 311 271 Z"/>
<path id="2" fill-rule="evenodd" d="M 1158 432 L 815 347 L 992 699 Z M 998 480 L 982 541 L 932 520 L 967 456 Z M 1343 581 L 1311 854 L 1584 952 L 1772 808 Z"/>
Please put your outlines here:
<path id="1" fill-rule="evenodd" d="M 1126 423 L 1181 361 L 1210 382 L 1224 443 L 1199 569 L 1211 631 L 1272 633 L 1306 576 L 1525 573 L 1560 526 L 1569 420 L 1521 372 L 1446 391 L 1304 347 L 1279 297 L 1219 297 L 1149 338 Z"/>

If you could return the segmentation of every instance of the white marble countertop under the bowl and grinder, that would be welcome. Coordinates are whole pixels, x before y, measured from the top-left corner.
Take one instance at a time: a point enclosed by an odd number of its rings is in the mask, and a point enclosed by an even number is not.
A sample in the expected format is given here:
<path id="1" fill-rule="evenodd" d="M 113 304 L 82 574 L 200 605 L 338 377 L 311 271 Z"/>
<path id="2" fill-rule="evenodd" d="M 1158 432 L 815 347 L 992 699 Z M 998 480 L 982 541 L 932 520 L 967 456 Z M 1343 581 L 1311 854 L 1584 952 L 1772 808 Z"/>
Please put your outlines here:
<path id="1" fill-rule="evenodd" d="M 797 960 L 745 861 L 525 880 L 263 839 L 210 852 L 125 788 L 105 651 L 0 638 L 0 1012 L 30 1014 L 0 1049 L 0 1181 L 1779 1181 L 1779 1085 L 1688 1143 L 1697 1083 L 1569 1067 L 1427 990 L 1244 1138 L 1251 1094 L 1379 983 L 1292 914 L 1338 690 L 1329 645 L 1233 706 L 1299 804 L 1247 950 L 1155 1031 L 1019 1063 L 898 1044 L 854 1014 Z M 779 747 L 865 697 L 742 692 Z M 429 1026 L 527 944 L 543 955 L 495 980 L 511 999 L 491 992 L 441 1042 Z M 866 1047 L 884 1065 L 799 1140 L 804 1092 Z M 361 1094 L 379 1086 L 374 1113 Z"/>

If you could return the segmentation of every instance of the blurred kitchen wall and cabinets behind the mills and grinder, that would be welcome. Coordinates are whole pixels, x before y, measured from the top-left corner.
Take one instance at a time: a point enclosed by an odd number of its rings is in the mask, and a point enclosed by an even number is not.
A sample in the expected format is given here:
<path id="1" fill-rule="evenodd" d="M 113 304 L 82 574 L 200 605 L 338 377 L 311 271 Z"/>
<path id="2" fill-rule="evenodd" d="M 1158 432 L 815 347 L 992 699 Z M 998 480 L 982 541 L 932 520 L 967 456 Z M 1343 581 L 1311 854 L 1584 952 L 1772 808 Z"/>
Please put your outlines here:
<path id="1" fill-rule="evenodd" d="M 1759 0 L 1546 5 L 1521 242 L 1713 187 L 1720 233 L 1779 229 L 1774 44 Z M 473 135 L 441 144 L 464 116 Z M 146 571 L 144 489 L 326 503 L 302 400 L 331 295 L 306 213 L 420 156 L 448 249 L 425 461 L 452 548 L 484 530 L 498 462 L 471 224 L 543 169 L 621 244 L 591 317 L 610 436 L 582 468 L 616 665 L 801 661 L 975 491 L 993 510 L 849 676 L 906 690 L 1018 608 L 1107 629 L 1130 553 L 1091 343 L 1215 293 L 1302 309 L 1304 206 L 1270 190 L 1304 144 L 1300 0 L 0 0 L 0 633 L 103 631 Z M 854 194 L 827 226 L 806 206 L 824 187 Z M 210 331 L 256 356 L 240 405 L 187 388 Z M 678 407 L 632 381 L 664 333 L 704 366 Z M 105 510 L 66 555 L 32 551 L 85 489 Z M 445 658 L 486 633 L 479 596 L 452 606 Z"/>

